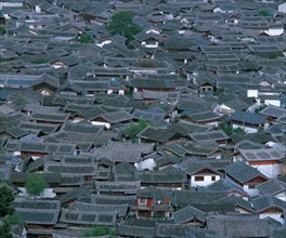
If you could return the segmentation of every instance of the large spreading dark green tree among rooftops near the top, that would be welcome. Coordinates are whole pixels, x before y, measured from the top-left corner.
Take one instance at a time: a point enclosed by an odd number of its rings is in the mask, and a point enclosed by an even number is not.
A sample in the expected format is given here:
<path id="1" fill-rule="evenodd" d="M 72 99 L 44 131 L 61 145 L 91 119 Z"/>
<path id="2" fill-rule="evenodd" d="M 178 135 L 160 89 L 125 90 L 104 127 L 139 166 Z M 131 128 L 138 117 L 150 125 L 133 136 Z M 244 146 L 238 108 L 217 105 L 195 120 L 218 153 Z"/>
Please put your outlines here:
<path id="1" fill-rule="evenodd" d="M 113 35 L 121 35 L 127 38 L 127 41 L 132 40 L 134 35 L 142 31 L 142 28 L 133 23 L 132 15 L 126 12 L 115 13 L 106 29 Z"/>

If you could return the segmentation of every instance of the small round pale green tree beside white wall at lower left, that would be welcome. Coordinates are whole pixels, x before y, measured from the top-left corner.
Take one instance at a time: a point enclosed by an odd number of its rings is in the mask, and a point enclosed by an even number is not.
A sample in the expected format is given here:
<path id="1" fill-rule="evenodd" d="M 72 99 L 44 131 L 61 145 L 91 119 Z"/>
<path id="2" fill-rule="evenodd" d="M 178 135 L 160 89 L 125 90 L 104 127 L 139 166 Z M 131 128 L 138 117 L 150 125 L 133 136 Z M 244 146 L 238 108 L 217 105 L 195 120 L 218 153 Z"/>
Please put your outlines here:
<path id="1" fill-rule="evenodd" d="M 25 188 L 29 195 L 39 196 L 47 187 L 47 182 L 42 174 L 29 173 Z"/>

